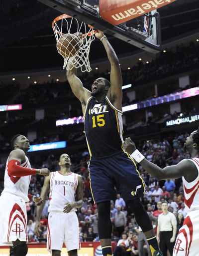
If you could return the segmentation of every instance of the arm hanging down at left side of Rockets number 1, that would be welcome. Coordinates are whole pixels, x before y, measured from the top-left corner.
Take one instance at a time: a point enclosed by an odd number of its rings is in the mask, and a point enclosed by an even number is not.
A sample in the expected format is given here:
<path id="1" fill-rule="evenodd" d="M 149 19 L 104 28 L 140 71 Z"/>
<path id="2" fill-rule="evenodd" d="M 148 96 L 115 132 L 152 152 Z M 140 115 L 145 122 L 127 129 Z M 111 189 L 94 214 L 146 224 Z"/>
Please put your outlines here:
<path id="1" fill-rule="evenodd" d="M 49 175 L 48 177 L 45 178 L 44 180 L 44 185 L 43 188 L 41 190 L 41 195 L 40 197 L 43 198 L 43 203 L 37 207 L 37 211 L 36 211 L 36 223 L 35 223 L 35 228 L 34 228 L 34 233 L 39 237 L 39 230 L 40 230 L 40 218 L 41 218 L 41 213 L 43 211 L 45 202 L 46 202 L 46 197 L 48 195 L 48 192 L 50 190 L 50 177 L 51 175 Z"/>

